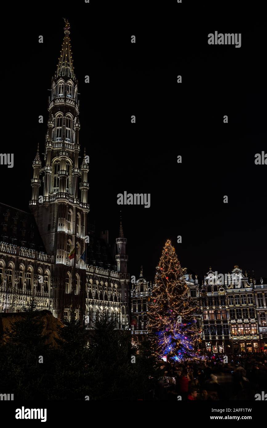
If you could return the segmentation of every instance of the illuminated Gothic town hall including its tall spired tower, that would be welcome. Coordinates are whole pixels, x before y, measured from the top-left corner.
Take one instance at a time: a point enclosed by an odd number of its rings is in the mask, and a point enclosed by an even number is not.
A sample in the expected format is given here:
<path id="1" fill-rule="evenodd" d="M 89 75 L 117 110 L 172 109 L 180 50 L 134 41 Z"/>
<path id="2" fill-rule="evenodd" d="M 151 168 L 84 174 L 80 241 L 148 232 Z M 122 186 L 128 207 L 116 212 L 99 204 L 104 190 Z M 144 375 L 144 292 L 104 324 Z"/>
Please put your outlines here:
<path id="1" fill-rule="evenodd" d="M 90 328 L 105 311 L 117 328 L 125 329 L 127 239 L 121 224 L 116 254 L 110 254 L 108 232 L 97 238 L 87 222 L 89 156 L 85 149 L 81 154 L 69 35 L 65 21 L 48 102 L 45 155 L 41 159 L 38 147 L 32 164 L 31 214 L 0 204 L 0 312 L 20 312 L 33 298 L 39 309 L 57 318 L 69 318 L 73 308 Z"/>

